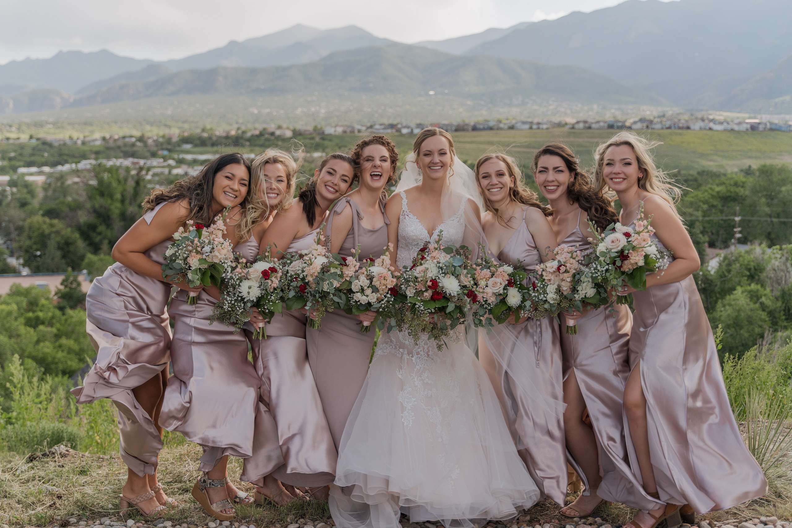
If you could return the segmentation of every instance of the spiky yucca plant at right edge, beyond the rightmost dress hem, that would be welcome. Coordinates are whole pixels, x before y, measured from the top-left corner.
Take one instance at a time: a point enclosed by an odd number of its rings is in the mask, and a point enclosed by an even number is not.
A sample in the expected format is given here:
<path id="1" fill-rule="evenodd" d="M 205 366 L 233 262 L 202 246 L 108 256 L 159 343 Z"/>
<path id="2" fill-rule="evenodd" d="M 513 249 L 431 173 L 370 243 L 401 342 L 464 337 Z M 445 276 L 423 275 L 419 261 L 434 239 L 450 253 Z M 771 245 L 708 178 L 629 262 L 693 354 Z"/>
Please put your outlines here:
<path id="1" fill-rule="evenodd" d="M 792 490 L 792 408 L 750 390 L 745 395 L 745 444 L 767 478 L 768 498 L 789 500 Z"/>

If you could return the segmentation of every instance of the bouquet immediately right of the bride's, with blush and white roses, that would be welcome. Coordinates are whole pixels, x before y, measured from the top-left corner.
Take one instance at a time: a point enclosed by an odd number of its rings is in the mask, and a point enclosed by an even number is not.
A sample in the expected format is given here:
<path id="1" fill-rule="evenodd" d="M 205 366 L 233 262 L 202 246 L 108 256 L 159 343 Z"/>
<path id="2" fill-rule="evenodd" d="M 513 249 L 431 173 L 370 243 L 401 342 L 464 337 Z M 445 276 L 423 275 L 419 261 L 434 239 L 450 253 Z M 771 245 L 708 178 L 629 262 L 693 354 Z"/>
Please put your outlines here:
<path id="1" fill-rule="evenodd" d="M 528 299 L 525 284 L 528 275 L 520 266 L 513 268 L 497 262 L 483 247 L 480 254 L 468 270 L 471 290 L 467 296 L 474 305 L 470 310 L 474 325 L 489 330 L 494 326 L 493 321 L 501 325 L 509 317 L 520 319 Z"/>

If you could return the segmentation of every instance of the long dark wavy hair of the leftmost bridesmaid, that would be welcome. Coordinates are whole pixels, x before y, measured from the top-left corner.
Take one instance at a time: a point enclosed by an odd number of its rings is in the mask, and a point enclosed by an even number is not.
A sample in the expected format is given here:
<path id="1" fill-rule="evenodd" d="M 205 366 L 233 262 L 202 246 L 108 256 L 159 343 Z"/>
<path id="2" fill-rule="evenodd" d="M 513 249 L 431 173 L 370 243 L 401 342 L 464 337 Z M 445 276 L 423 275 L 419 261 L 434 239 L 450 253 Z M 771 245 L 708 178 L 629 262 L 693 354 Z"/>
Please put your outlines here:
<path id="1" fill-rule="evenodd" d="M 212 188 L 215 185 L 215 176 L 221 170 L 225 169 L 228 165 L 238 163 L 244 165 L 248 173 L 250 173 L 250 163 L 246 160 L 245 156 L 238 152 L 231 152 L 230 154 L 221 154 L 217 158 L 209 161 L 200 173 L 195 176 L 187 177 L 183 180 L 178 180 L 169 188 L 156 188 L 150 192 L 149 196 L 143 200 L 143 214 L 154 209 L 162 202 L 173 202 L 176 200 L 186 198 L 189 205 L 189 215 L 185 221 L 192 220 L 196 223 L 203 223 L 207 226 L 211 224 L 213 215 L 212 209 Z M 242 203 L 243 216 L 246 214 L 250 202 L 250 190 L 253 188 L 254 182 L 249 182 L 248 192 Z M 248 237 L 250 234 L 248 234 Z M 246 240 L 246 238 L 240 240 Z"/>

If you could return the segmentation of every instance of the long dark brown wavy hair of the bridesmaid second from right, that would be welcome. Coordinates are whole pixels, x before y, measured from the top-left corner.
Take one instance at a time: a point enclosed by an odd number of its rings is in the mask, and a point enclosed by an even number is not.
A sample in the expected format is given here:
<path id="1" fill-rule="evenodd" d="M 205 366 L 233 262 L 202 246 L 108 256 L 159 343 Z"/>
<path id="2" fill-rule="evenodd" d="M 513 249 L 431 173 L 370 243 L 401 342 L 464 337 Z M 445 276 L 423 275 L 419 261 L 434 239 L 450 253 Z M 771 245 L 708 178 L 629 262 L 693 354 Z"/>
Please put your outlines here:
<path id="1" fill-rule="evenodd" d="M 613 208 L 611 200 L 605 198 L 602 192 L 595 190 L 592 178 L 580 168 L 575 153 L 569 146 L 563 143 L 547 143 L 534 155 L 534 162 L 531 171 L 536 174 L 539 170 L 539 158 L 543 156 L 558 156 L 564 161 L 566 169 L 572 176 L 569 186 L 566 188 L 566 196 L 571 203 L 577 203 L 583 211 L 586 211 L 588 219 L 594 224 L 605 230 L 607 226 L 619 221 L 619 215 Z"/>

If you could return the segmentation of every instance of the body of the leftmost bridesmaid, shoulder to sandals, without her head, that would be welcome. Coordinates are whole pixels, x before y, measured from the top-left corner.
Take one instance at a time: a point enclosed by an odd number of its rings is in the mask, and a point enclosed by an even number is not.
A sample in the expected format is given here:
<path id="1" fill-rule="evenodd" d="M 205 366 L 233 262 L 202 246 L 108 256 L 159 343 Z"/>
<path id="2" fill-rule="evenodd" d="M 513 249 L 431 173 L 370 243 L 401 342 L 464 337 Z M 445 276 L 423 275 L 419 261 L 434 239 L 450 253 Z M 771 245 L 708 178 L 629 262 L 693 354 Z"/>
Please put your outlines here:
<path id="1" fill-rule="evenodd" d="M 188 180 L 174 184 L 188 186 Z M 159 416 L 170 360 L 166 304 L 172 285 L 188 292 L 200 287 L 168 282 L 161 266 L 171 235 L 188 219 L 211 220 L 206 204 L 170 201 L 162 189 L 143 202 L 143 218 L 112 249 L 116 264 L 93 280 L 86 296 L 86 332 L 97 359 L 83 386 L 71 391 L 78 403 L 106 397 L 118 408 L 120 454 L 128 467 L 122 509 L 132 505 L 146 517 L 161 515 L 174 503 L 157 482 Z"/>

